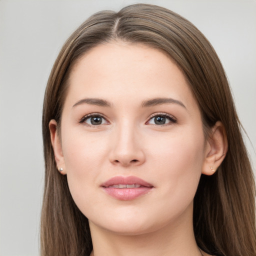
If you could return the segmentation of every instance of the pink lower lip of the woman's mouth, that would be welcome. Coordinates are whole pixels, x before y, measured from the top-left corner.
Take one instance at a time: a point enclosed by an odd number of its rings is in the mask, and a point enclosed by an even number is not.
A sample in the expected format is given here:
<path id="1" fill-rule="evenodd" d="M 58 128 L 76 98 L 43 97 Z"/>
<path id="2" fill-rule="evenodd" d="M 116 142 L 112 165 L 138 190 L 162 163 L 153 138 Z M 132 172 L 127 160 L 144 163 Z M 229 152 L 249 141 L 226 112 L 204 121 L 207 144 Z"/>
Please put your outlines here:
<path id="1" fill-rule="evenodd" d="M 148 193 L 152 187 L 142 186 L 136 188 L 115 188 L 115 187 L 103 187 L 104 191 L 110 196 L 118 200 L 132 200 L 143 194 Z"/>

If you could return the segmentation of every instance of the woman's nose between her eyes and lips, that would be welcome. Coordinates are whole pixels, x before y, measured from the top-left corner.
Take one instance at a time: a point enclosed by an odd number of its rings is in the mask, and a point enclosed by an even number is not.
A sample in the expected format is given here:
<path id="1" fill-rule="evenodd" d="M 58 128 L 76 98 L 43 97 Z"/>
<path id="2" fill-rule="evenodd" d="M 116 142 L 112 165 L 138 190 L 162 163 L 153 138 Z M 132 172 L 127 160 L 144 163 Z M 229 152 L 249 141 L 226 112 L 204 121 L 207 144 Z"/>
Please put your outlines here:
<path id="1" fill-rule="evenodd" d="M 141 136 L 137 129 L 129 124 L 121 125 L 114 130 L 109 160 L 114 165 L 138 166 L 145 161 Z"/>

